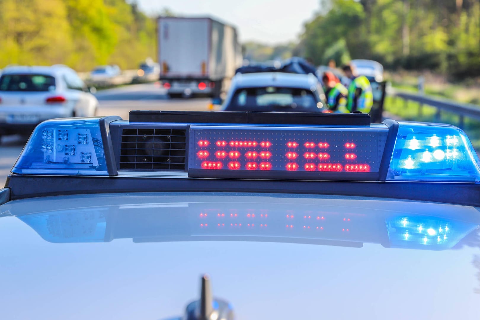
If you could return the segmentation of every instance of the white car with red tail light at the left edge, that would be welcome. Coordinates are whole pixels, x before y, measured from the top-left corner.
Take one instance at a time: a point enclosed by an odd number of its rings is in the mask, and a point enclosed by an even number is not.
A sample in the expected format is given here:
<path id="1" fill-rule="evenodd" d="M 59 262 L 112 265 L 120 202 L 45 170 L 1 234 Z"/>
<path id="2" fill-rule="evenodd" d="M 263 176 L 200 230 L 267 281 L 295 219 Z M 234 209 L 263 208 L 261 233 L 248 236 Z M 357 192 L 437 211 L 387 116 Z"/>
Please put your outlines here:
<path id="1" fill-rule="evenodd" d="M 53 118 L 93 117 L 98 100 L 72 69 L 8 67 L 0 76 L 0 136 L 29 135 Z"/>

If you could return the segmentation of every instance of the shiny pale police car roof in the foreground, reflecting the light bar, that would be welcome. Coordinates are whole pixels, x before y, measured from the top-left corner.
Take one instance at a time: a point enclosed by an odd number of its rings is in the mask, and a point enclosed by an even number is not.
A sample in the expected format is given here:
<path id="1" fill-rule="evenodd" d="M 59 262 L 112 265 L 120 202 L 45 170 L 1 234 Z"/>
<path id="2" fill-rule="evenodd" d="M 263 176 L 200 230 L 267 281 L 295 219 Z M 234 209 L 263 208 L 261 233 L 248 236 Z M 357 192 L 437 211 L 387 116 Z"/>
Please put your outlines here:
<path id="1" fill-rule="evenodd" d="M 479 317 L 471 207 L 155 192 L 24 199 L 0 212 L 6 319 L 50 319 L 45 306 L 73 320 L 180 316 L 205 272 L 248 318 Z M 455 250 L 436 251 L 451 240 Z"/>

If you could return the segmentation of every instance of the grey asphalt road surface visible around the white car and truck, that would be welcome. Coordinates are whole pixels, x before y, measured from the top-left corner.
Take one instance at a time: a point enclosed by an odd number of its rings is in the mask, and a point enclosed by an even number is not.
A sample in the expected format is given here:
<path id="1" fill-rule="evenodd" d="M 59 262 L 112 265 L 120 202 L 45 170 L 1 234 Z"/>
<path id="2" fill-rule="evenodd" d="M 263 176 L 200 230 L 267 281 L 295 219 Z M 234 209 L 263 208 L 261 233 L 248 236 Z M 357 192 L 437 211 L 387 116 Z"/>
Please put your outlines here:
<path id="1" fill-rule="evenodd" d="M 99 91 L 99 116 L 120 116 L 128 119 L 131 110 L 182 110 L 206 111 L 208 98 L 168 99 L 164 89 L 155 83 L 134 84 Z M 22 151 L 26 138 L 6 136 L 0 144 L 0 188 Z"/>

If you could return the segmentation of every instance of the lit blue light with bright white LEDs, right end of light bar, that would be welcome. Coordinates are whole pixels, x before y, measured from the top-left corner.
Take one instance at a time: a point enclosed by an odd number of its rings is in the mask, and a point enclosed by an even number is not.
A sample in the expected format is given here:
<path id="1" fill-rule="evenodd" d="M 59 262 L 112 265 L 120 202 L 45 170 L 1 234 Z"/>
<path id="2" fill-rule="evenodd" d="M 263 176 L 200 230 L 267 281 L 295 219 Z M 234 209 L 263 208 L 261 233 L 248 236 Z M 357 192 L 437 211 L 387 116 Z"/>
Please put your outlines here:
<path id="1" fill-rule="evenodd" d="M 479 158 L 455 126 L 399 122 L 387 180 L 476 182 Z"/>

